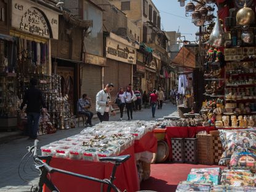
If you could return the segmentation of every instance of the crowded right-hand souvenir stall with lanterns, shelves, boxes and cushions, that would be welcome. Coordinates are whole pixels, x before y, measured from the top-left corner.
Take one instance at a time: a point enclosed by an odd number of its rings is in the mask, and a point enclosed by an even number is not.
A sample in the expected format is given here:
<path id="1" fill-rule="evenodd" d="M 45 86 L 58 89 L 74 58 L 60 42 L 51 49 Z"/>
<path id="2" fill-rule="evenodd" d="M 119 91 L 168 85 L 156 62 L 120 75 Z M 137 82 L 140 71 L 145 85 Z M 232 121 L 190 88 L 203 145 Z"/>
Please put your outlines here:
<path id="1" fill-rule="evenodd" d="M 255 2 L 247 2 L 234 1 L 231 9 L 230 2 L 216 1 L 218 7 L 228 6 L 223 8 L 226 15 L 218 12 L 222 21 L 217 17 L 206 39 L 210 48 L 203 66 L 206 100 L 201 114 L 160 124 L 166 126 L 173 162 L 222 166 L 191 169 L 177 191 L 256 191 Z M 204 5 L 198 9 L 199 4 L 188 2 L 186 11 L 198 17 Z"/>

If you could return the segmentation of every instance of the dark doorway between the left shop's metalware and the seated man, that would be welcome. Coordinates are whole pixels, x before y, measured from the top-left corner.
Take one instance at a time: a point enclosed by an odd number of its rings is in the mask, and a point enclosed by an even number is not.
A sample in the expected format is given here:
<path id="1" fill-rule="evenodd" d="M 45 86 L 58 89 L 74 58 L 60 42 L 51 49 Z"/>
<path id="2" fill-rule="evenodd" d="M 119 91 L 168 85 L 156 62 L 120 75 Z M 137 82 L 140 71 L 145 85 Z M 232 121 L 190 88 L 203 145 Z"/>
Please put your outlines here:
<path id="1" fill-rule="evenodd" d="M 57 74 L 62 77 L 62 95 L 68 95 L 70 111 L 74 114 L 74 68 L 68 66 L 58 66 Z"/>

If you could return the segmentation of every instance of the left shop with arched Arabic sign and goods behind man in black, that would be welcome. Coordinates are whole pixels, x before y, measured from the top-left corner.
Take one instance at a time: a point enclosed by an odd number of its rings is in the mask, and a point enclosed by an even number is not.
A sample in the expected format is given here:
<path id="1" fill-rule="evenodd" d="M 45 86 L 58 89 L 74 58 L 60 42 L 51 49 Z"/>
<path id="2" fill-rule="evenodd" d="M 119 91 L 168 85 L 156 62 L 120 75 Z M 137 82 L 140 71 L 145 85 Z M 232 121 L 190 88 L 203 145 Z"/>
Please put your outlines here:
<path id="1" fill-rule="evenodd" d="M 49 5 L 12 0 L 10 35 L 15 39 L 14 55 L 17 57 L 15 58 L 15 65 L 6 69 L 7 74 L 15 74 L 13 80 L 16 84 L 13 87 L 13 95 L 17 95 L 17 102 L 13 105 L 17 107 L 16 109 L 22 102 L 25 90 L 30 86 L 30 79 L 36 78 L 38 80 L 37 87 L 44 94 L 48 111 L 41 116 L 38 135 L 49 134 L 55 132 L 56 129 L 74 127 L 74 116 L 68 107 L 68 97 L 61 94 L 60 76 L 51 74 L 50 39 L 58 39 L 58 15 L 60 15 L 60 11 L 45 6 Z M 26 127 L 24 111 L 20 111 L 18 114 L 18 127 L 20 129 Z"/>

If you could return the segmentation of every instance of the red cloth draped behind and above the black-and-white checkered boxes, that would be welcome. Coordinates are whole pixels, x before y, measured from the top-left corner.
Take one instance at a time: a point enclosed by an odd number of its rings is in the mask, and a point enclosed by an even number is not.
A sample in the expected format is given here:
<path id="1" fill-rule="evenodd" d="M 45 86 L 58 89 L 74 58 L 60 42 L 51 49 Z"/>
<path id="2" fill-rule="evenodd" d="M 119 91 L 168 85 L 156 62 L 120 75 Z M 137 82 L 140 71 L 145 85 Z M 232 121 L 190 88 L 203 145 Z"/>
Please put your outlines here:
<path id="1" fill-rule="evenodd" d="M 209 134 L 210 130 L 217 130 L 215 127 L 166 127 L 165 140 L 170 148 L 169 161 L 172 160 L 172 143 L 171 138 L 193 138 L 198 132 L 206 130 Z"/>

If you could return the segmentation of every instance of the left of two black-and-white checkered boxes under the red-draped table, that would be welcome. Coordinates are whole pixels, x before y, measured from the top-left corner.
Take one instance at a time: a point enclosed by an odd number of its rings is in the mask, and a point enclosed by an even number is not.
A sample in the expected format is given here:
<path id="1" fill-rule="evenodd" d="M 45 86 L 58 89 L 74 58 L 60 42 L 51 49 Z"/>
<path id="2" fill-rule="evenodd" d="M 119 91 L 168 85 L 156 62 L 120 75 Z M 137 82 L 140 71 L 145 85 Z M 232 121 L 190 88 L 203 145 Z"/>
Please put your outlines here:
<path id="1" fill-rule="evenodd" d="M 172 142 L 172 161 L 184 162 L 184 139 L 171 138 Z"/>

